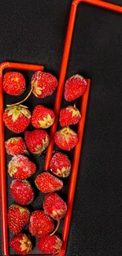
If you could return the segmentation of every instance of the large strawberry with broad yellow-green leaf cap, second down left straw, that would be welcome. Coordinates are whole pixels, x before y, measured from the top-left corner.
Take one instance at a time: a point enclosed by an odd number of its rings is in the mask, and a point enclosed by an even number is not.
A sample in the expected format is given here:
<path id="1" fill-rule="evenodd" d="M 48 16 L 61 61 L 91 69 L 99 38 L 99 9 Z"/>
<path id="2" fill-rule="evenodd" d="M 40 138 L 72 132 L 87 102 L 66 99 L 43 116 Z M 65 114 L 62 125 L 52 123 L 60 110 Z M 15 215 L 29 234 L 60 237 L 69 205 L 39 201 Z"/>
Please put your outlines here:
<path id="1" fill-rule="evenodd" d="M 31 113 L 27 106 L 10 106 L 3 114 L 3 121 L 10 131 L 20 133 L 31 123 Z"/>

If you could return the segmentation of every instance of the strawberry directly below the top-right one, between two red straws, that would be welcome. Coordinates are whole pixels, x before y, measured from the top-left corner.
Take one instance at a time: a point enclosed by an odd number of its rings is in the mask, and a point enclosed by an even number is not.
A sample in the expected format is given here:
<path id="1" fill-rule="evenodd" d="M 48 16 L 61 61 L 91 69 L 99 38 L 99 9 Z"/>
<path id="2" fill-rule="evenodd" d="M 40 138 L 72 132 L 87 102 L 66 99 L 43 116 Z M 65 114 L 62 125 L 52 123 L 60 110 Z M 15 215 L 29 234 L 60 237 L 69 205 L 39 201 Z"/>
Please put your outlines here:
<path id="1" fill-rule="evenodd" d="M 67 127 L 70 124 L 77 124 L 80 119 L 79 109 L 74 106 L 68 106 L 65 109 L 61 109 L 60 112 L 60 125 L 61 127 Z"/>

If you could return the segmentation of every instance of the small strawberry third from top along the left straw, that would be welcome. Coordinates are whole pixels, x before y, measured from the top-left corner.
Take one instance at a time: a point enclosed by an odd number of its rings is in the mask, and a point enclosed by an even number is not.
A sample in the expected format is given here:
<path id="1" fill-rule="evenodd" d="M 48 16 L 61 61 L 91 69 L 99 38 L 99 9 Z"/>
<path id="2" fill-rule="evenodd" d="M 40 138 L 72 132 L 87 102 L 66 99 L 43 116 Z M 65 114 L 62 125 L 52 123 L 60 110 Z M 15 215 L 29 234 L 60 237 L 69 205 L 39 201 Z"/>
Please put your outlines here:
<path id="1" fill-rule="evenodd" d="M 21 137 L 13 137 L 8 139 L 5 143 L 5 147 L 7 154 L 17 155 L 28 153 L 24 139 Z"/>

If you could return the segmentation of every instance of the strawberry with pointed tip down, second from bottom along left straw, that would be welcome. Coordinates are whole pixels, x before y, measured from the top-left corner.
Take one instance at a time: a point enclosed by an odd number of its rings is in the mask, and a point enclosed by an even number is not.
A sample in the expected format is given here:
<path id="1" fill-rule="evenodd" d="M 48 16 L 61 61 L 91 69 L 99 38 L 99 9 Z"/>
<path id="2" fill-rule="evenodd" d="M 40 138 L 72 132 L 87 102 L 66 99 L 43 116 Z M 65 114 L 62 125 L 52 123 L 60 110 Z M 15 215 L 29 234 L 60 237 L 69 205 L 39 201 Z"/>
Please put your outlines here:
<path id="1" fill-rule="evenodd" d="M 26 224 L 28 224 L 30 212 L 27 208 L 12 205 L 9 207 L 8 212 L 8 225 L 11 232 L 14 234 L 19 233 Z"/>

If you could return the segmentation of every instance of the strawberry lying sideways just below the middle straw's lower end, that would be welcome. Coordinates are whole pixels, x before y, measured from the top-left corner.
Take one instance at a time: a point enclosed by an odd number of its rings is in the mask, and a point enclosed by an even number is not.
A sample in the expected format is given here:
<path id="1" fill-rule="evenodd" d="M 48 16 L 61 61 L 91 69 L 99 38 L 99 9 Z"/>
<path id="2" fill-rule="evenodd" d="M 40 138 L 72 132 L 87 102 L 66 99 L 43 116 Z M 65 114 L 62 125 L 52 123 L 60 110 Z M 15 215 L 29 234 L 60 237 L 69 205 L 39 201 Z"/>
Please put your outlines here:
<path id="1" fill-rule="evenodd" d="M 63 182 L 50 173 L 41 173 L 36 177 L 35 185 L 43 193 L 50 193 L 60 190 L 63 187 Z"/>

